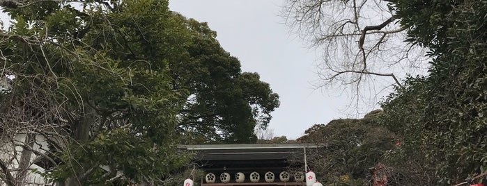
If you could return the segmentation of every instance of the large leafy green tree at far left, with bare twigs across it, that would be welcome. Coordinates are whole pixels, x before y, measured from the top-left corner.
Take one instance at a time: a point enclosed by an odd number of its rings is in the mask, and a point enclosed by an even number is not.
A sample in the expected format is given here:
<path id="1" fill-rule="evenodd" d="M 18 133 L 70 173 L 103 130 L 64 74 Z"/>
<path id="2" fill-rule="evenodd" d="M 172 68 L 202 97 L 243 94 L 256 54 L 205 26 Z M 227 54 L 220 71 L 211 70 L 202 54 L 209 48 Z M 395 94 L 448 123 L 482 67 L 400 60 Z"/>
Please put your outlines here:
<path id="1" fill-rule="evenodd" d="M 15 146 L 65 185 L 157 182 L 178 166 L 171 130 L 183 101 L 167 61 L 190 41 L 167 2 L 25 3 L 4 6 L 15 23 L 2 32 L 2 76 L 15 78 L 1 95 L 3 137 L 42 136 L 39 151 Z"/>

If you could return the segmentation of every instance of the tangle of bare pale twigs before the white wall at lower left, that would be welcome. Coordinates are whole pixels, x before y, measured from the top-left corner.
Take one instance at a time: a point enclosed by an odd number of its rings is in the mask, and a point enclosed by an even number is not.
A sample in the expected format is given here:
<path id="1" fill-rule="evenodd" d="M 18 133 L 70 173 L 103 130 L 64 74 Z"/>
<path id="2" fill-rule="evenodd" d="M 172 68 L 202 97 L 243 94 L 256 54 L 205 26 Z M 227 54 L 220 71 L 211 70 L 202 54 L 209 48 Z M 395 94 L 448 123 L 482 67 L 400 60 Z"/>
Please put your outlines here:
<path id="1" fill-rule="evenodd" d="M 15 78 L 25 78 L 22 74 L 15 75 Z M 35 84 L 31 85 L 31 94 L 24 94 L 20 99 L 0 92 L 0 97 L 8 100 L 3 102 L 8 107 L 0 108 L 0 169 L 2 180 L 9 186 L 22 185 L 32 171 L 31 165 L 38 160 L 58 164 L 53 159 L 57 157 L 56 149 L 61 151 L 67 144 L 67 123 L 61 119 L 59 105 L 49 103 L 50 96 L 42 92 L 46 89 Z M 15 87 L 6 87 L 7 91 L 12 89 Z"/>

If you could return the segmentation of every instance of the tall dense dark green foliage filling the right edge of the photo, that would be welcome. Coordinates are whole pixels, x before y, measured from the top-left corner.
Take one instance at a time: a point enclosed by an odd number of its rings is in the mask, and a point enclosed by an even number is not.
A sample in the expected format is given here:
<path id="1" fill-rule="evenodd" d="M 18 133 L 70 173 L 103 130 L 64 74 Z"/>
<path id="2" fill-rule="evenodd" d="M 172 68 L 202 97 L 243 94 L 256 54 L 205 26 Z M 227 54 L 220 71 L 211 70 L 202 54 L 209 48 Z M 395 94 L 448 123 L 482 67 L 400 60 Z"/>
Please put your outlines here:
<path id="1" fill-rule="evenodd" d="M 391 5 L 410 28 L 408 42 L 428 47 L 433 58 L 428 76 L 408 78 L 382 103 L 382 122 L 403 141 L 396 161 L 428 167 L 422 171 L 435 178 L 424 176 L 426 185 L 481 173 L 487 167 L 487 2 Z"/>

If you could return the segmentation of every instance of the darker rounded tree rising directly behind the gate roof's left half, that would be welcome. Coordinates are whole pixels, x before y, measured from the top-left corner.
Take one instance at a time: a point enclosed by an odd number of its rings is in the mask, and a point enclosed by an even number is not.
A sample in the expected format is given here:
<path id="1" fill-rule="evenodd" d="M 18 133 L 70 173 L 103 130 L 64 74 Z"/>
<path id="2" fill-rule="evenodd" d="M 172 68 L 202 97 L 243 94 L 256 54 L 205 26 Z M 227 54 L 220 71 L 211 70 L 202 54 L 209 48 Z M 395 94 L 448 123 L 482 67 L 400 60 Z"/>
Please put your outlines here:
<path id="1" fill-rule="evenodd" d="M 170 64 L 177 89 L 189 90 L 180 128 L 205 136 L 203 142 L 255 142 L 254 128 L 266 128 L 279 96 L 256 73 L 219 45 L 206 23 L 187 20 L 192 32 L 188 56 Z"/>

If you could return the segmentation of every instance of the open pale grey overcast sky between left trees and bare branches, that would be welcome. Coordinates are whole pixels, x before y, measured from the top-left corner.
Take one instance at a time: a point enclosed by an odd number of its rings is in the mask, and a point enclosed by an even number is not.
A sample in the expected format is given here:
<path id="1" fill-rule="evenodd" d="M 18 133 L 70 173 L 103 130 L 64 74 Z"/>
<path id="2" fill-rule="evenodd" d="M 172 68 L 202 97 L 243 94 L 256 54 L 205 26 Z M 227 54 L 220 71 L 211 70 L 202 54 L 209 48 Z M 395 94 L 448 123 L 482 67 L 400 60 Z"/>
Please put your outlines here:
<path id="1" fill-rule="evenodd" d="M 171 10 L 217 31 L 222 47 L 237 57 L 242 71 L 257 72 L 280 96 L 270 128 L 276 136 L 296 139 L 313 124 L 357 117 L 337 90 L 315 90 L 317 56 L 279 16 L 282 0 L 170 0 Z M 339 96 L 341 95 L 341 96 Z"/>

